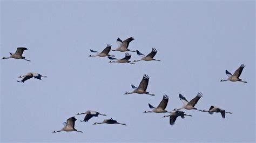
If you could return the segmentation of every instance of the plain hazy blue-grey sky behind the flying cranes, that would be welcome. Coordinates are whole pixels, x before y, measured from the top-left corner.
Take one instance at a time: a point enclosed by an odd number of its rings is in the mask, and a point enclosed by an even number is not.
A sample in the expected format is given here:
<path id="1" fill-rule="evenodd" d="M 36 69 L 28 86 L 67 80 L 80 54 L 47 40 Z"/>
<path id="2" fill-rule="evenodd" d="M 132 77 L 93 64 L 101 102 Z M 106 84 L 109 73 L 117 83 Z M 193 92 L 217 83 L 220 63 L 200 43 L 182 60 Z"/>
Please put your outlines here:
<path id="1" fill-rule="evenodd" d="M 255 2 L 254 1 L 1 1 L 1 53 L 9 56 L 27 47 L 30 59 L 1 62 L 1 142 L 56 141 L 255 141 Z M 152 47 L 161 62 L 134 65 L 88 57 L 116 40 L 134 37 L 129 45 L 145 55 Z M 131 60 L 140 57 L 130 52 Z M 125 52 L 111 52 L 123 58 Z M 220 82 L 225 70 L 246 67 L 240 78 L 248 83 Z M 17 77 L 38 72 L 48 78 L 18 83 Z M 129 94 L 143 74 L 147 91 Z M 143 113 L 157 106 L 163 94 L 167 110 L 181 107 L 179 93 L 196 105 L 211 105 L 233 114 L 183 110 L 170 126 L 165 113 Z M 106 117 L 80 122 L 78 132 L 60 130 L 78 112 L 95 110 Z M 104 119 L 123 125 L 92 125 Z"/>

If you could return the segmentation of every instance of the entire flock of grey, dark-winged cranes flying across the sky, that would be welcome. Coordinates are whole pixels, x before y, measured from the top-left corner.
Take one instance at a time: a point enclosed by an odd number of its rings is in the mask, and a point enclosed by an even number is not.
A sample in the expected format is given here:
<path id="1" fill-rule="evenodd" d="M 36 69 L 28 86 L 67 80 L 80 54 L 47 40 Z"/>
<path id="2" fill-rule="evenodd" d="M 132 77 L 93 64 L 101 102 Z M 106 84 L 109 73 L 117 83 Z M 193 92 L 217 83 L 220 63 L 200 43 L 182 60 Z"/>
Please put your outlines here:
<path id="1" fill-rule="evenodd" d="M 139 52 L 138 50 L 133 51 L 128 49 L 130 42 L 132 42 L 132 40 L 134 40 L 133 37 L 127 38 L 126 40 L 122 41 L 120 38 L 117 39 L 117 44 L 118 47 L 115 50 L 111 50 L 111 45 L 107 44 L 106 48 L 102 51 L 102 52 L 97 52 L 95 50 L 90 50 L 91 52 L 95 53 L 95 55 L 89 55 L 89 57 L 107 57 L 110 59 L 109 63 L 129 63 L 129 64 L 134 64 L 134 62 L 139 62 L 140 60 L 145 60 L 145 61 L 151 61 L 151 60 L 155 60 L 155 61 L 160 61 L 158 59 L 154 59 L 154 56 L 156 56 L 157 53 L 157 49 L 155 49 L 154 47 L 152 48 L 152 51 L 148 54 L 148 55 L 144 55 L 143 53 Z M 8 58 L 15 58 L 15 59 L 24 59 L 27 61 L 30 61 L 28 59 L 25 59 L 25 57 L 22 56 L 23 52 L 26 49 L 26 47 L 18 47 L 15 53 L 10 53 L 9 57 L 3 57 L 2 59 L 8 59 Z M 125 53 L 125 57 L 122 59 L 116 59 L 113 58 L 115 57 L 114 55 L 110 55 L 109 53 L 111 51 L 120 51 L 120 52 L 126 52 Z M 141 56 L 142 58 L 139 60 L 134 60 L 133 62 L 131 62 L 129 59 L 131 58 L 130 53 L 128 52 L 136 52 L 138 56 Z M 242 70 L 244 69 L 245 65 L 242 64 L 233 74 L 231 74 L 229 71 L 226 70 L 226 75 L 228 76 L 228 78 L 226 80 L 221 79 L 220 81 L 240 81 L 243 83 L 247 83 L 247 81 L 242 81 L 242 79 L 239 79 Z M 23 78 L 24 77 L 24 78 Z M 46 78 L 46 76 L 42 76 L 39 73 L 35 73 L 35 72 L 29 72 L 26 73 L 24 76 L 19 76 L 18 78 L 23 78 L 22 80 L 17 80 L 18 82 L 24 83 L 24 81 L 30 79 L 30 78 L 36 78 L 41 80 L 41 77 Z M 137 94 L 147 94 L 150 96 L 154 96 L 154 94 L 146 91 L 147 90 L 147 85 L 149 84 L 149 79 L 150 77 L 147 74 L 143 75 L 142 80 L 140 81 L 140 84 L 138 87 L 134 86 L 133 84 L 131 85 L 131 87 L 133 88 L 132 92 L 126 92 L 124 94 L 132 94 L 132 93 L 137 93 Z M 169 96 L 167 96 L 166 94 L 164 94 L 163 99 L 161 100 L 160 104 L 157 107 L 152 106 L 151 104 L 149 104 L 149 107 L 151 108 L 151 111 L 144 111 L 144 113 L 170 113 L 170 115 L 164 115 L 164 117 L 170 117 L 170 125 L 174 125 L 174 122 L 176 121 L 176 119 L 180 116 L 182 119 L 185 118 L 185 116 L 190 116 L 192 117 L 192 115 L 189 114 L 185 114 L 185 112 L 180 111 L 181 109 L 186 109 L 186 110 L 198 110 L 201 112 L 208 112 L 209 114 L 213 114 L 214 112 L 216 113 L 221 113 L 221 116 L 223 118 L 225 118 L 225 113 L 229 113 L 232 114 L 231 112 L 226 112 L 224 109 L 219 108 L 217 106 L 211 106 L 209 110 L 199 110 L 196 107 L 194 107 L 199 99 L 203 97 L 203 93 L 198 92 L 197 96 L 194 97 L 193 99 L 191 99 L 190 101 L 188 101 L 182 94 L 179 94 L 179 99 L 180 101 L 183 103 L 183 106 L 181 106 L 180 108 L 174 108 L 173 111 L 166 111 L 166 107 L 169 101 Z M 92 111 L 92 110 L 87 110 L 84 113 L 77 113 L 76 115 L 80 115 L 80 114 L 86 114 L 84 117 L 84 122 L 88 122 L 92 117 L 98 117 L 98 115 L 103 115 L 106 116 L 106 114 L 101 114 L 97 111 Z M 66 120 L 66 122 L 64 122 L 64 127 L 59 130 L 59 131 L 53 131 L 52 133 L 57 133 L 60 131 L 76 131 L 76 132 L 80 132 L 82 133 L 82 131 L 77 131 L 75 128 L 75 122 L 76 122 L 76 118 L 75 117 L 71 117 L 69 119 Z M 119 123 L 116 120 L 111 119 L 105 119 L 102 122 L 95 122 L 93 125 L 97 125 L 97 124 L 120 124 L 120 125 L 126 125 L 123 123 Z"/>

